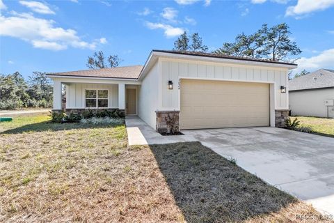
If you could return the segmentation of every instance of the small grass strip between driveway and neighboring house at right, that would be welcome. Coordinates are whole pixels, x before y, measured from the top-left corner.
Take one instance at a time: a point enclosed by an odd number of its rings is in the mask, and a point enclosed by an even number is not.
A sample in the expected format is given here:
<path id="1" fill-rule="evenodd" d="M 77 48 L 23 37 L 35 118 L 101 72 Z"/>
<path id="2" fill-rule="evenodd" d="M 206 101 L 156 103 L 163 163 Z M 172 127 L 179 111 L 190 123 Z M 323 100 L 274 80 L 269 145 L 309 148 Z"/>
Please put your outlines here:
<path id="1" fill-rule="evenodd" d="M 305 116 L 296 116 L 291 117 L 298 118 L 301 122 L 301 125 L 308 125 L 312 127 L 312 130 L 318 134 L 324 134 L 329 137 L 334 137 L 334 118 L 317 118 L 317 117 L 305 117 Z"/>

